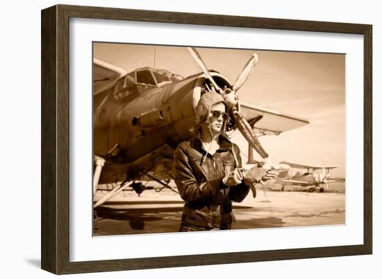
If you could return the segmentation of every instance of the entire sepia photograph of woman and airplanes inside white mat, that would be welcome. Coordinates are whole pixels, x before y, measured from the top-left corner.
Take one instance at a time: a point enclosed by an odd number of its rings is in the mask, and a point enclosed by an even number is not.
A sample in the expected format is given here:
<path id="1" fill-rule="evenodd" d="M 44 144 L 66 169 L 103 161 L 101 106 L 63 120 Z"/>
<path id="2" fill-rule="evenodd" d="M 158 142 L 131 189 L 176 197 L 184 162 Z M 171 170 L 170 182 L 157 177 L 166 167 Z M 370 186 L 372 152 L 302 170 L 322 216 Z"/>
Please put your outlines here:
<path id="1" fill-rule="evenodd" d="M 346 224 L 344 53 L 92 52 L 94 237 Z"/>

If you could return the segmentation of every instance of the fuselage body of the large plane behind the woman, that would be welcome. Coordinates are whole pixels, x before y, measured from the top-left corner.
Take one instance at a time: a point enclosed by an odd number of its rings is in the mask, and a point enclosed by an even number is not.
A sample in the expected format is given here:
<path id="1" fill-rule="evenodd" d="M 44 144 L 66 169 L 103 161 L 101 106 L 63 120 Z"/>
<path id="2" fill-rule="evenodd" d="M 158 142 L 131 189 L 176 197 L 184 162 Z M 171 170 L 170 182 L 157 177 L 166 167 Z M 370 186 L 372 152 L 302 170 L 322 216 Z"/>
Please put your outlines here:
<path id="1" fill-rule="evenodd" d="M 94 96 L 94 154 L 111 150 L 111 160 L 130 163 L 165 144 L 176 148 L 192 136 L 194 107 L 205 80 L 204 75 L 192 75 L 141 93 L 132 91 L 122 99 L 115 87 Z"/>

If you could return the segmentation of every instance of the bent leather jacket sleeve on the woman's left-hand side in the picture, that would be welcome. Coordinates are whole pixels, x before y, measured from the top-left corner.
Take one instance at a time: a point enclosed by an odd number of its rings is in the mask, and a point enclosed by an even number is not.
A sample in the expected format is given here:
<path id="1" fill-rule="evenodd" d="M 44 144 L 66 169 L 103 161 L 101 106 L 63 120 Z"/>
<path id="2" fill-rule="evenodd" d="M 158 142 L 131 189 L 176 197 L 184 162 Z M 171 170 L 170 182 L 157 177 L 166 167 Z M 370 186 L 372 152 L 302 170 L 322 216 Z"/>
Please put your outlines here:
<path id="1" fill-rule="evenodd" d="M 178 145 L 174 154 L 174 180 L 181 198 L 187 204 L 206 201 L 216 195 L 220 189 L 222 179 L 201 181 L 198 183 L 183 144 Z"/>

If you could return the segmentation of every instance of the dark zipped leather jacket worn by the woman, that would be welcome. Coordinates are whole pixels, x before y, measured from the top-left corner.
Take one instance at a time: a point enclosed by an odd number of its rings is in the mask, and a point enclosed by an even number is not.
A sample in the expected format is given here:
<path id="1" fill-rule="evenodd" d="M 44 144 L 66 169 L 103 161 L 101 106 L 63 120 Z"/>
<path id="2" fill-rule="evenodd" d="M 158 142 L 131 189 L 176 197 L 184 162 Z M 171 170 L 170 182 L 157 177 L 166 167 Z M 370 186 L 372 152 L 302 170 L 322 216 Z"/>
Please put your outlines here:
<path id="1" fill-rule="evenodd" d="M 207 227 L 231 224 L 235 221 L 232 201 L 242 201 L 249 192 L 244 181 L 231 187 L 222 182 L 226 172 L 241 168 L 242 163 L 237 145 L 224 134 L 218 141 L 219 149 L 213 155 L 204 150 L 199 138 L 176 148 L 174 180 L 185 201 L 182 222 Z"/>

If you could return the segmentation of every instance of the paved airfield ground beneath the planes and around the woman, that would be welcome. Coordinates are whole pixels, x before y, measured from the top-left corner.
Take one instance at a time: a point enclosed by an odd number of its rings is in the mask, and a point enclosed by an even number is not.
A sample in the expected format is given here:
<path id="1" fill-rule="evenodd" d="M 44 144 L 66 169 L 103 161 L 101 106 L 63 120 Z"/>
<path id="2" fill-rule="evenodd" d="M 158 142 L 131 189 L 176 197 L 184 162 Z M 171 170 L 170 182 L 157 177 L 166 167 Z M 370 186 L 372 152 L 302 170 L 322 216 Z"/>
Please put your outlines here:
<path id="1" fill-rule="evenodd" d="M 344 224 L 344 182 L 333 184 L 334 192 L 323 193 L 259 187 L 256 199 L 249 192 L 233 204 L 233 229 Z M 96 200 L 105 194 L 99 191 Z M 177 232 L 182 207 L 181 198 L 170 190 L 146 190 L 140 197 L 125 191 L 97 208 L 94 236 Z"/>

